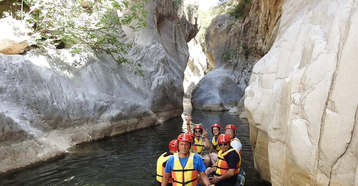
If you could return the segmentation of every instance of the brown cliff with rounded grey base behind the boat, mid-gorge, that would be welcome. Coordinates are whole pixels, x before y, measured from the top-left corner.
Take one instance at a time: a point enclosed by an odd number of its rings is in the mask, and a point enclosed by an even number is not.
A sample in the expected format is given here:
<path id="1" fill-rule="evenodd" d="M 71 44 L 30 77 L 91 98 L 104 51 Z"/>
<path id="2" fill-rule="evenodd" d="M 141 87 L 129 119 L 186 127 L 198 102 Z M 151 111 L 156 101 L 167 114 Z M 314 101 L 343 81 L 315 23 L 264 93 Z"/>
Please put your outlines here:
<path id="1" fill-rule="evenodd" d="M 253 0 L 249 16 L 236 20 L 218 15 L 205 33 L 205 55 L 213 68 L 192 93 L 194 109 L 242 109 L 239 101 L 248 85 L 253 65 L 276 38 L 281 0 Z"/>

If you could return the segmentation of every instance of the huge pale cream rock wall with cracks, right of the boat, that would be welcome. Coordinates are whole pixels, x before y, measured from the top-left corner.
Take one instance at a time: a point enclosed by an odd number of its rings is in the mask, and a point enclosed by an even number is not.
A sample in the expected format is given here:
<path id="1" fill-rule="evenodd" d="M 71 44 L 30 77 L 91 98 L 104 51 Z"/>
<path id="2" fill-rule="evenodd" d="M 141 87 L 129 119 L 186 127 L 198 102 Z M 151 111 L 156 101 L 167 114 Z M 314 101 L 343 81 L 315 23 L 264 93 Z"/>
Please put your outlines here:
<path id="1" fill-rule="evenodd" d="M 281 10 L 245 91 L 255 168 L 274 186 L 358 185 L 358 2 Z"/>

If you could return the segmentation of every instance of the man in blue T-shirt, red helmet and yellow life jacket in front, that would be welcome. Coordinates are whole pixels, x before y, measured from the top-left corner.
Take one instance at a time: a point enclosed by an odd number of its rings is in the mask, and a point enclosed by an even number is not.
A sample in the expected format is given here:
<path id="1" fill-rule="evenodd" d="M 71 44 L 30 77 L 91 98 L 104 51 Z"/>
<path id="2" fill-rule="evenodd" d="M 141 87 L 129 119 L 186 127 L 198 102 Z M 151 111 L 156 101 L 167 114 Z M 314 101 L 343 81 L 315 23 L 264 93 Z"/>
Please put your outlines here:
<path id="1" fill-rule="evenodd" d="M 179 152 L 174 153 L 168 159 L 161 186 L 168 185 L 170 176 L 173 179 L 173 186 L 197 186 L 199 181 L 203 182 L 205 186 L 211 185 L 208 176 L 204 172 L 206 167 L 201 157 L 189 152 L 193 138 L 189 134 L 182 133 L 179 134 L 177 140 Z"/>

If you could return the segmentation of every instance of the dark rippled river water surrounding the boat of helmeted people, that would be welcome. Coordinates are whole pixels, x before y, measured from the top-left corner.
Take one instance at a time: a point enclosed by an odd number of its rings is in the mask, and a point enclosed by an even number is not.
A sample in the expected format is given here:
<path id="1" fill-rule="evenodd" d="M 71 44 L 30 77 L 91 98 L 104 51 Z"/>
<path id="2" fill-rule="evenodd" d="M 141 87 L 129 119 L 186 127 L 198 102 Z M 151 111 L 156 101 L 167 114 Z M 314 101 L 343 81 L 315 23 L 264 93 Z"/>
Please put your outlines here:
<path id="1" fill-rule="evenodd" d="M 242 164 L 246 172 L 246 186 L 265 186 L 254 170 L 250 131 L 246 119 L 234 113 L 199 111 L 184 107 L 182 117 L 175 117 L 160 125 L 122 134 L 115 138 L 81 144 L 69 148 L 68 156 L 0 177 L 4 186 L 156 186 L 156 160 L 168 150 L 168 143 L 179 133 L 187 132 L 184 122 L 202 124 L 212 139 L 211 125 L 234 124 L 242 143 Z M 223 133 L 223 130 L 222 130 Z M 208 149 L 203 150 L 207 154 Z"/>

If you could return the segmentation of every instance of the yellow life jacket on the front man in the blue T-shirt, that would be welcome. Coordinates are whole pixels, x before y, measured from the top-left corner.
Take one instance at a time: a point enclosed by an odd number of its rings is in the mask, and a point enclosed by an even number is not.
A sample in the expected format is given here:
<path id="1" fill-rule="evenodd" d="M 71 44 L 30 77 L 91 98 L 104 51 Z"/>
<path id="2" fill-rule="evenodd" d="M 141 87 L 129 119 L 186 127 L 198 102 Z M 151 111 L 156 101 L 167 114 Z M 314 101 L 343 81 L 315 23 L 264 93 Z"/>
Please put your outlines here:
<path id="1" fill-rule="evenodd" d="M 190 152 L 187 164 L 183 169 L 178 153 L 174 153 L 174 168 L 171 170 L 173 186 L 197 186 L 198 170 L 194 169 L 194 153 Z"/>

